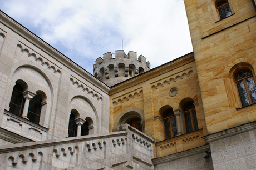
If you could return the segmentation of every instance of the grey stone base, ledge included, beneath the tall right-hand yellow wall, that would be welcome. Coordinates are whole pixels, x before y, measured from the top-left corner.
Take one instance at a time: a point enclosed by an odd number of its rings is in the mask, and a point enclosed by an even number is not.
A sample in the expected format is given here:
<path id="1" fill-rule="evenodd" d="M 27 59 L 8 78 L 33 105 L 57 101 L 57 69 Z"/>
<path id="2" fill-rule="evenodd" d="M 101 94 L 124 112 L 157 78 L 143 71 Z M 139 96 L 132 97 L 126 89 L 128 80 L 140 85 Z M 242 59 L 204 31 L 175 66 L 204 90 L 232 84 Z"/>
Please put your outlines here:
<path id="1" fill-rule="evenodd" d="M 214 170 L 256 168 L 256 122 L 204 138 L 210 143 Z"/>

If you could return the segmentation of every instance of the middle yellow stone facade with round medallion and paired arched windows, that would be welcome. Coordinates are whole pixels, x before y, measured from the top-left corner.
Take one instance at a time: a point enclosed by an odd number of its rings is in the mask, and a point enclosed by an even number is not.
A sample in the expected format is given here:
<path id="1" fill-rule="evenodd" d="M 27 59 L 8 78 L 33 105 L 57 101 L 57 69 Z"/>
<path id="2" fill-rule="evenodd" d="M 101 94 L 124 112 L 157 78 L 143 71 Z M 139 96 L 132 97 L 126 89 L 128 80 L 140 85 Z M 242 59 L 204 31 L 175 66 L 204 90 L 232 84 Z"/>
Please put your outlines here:
<path id="1" fill-rule="evenodd" d="M 170 96 L 170 89 L 178 93 Z M 205 117 L 193 53 L 151 69 L 110 89 L 110 131 L 140 118 L 143 132 L 155 139 L 156 157 L 203 146 L 207 135 Z M 195 103 L 198 131 L 165 139 L 163 113 L 168 108 L 183 111 L 188 101 Z M 183 117 L 181 117 L 184 119 Z M 181 124 L 184 129 L 184 124 Z"/>

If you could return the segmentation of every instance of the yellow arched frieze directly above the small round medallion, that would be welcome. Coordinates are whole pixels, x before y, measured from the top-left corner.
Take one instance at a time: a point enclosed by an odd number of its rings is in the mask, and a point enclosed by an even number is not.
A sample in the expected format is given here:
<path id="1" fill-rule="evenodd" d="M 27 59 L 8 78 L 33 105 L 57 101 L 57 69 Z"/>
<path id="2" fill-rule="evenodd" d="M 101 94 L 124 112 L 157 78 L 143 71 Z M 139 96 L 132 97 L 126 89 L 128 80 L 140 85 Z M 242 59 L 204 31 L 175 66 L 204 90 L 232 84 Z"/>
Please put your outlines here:
<path id="1" fill-rule="evenodd" d="M 151 88 L 153 90 L 158 89 L 159 87 L 164 87 L 165 84 L 171 84 L 171 82 L 176 82 L 178 79 L 186 79 L 189 77 L 193 77 L 193 69 L 192 67 L 185 69 L 181 72 L 178 72 L 176 74 L 173 74 L 169 77 L 166 77 L 164 79 L 160 79 L 157 82 L 151 83 Z"/>

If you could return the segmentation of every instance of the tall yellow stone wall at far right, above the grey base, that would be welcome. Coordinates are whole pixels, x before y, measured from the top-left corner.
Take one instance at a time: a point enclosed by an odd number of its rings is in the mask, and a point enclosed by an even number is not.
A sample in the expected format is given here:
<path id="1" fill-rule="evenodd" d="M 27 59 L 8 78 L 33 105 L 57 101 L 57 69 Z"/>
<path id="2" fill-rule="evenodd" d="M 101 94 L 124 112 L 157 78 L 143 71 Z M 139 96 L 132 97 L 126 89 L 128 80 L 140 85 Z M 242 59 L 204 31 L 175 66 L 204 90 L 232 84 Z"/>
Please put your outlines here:
<path id="1" fill-rule="evenodd" d="M 221 20 L 216 9 L 220 1 L 184 2 L 208 133 L 255 121 L 256 106 L 242 108 L 234 80 L 238 71 L 247 69 L 255 81 L 256 12 L 252 1 L 228 1 L 232 15 Z"/>

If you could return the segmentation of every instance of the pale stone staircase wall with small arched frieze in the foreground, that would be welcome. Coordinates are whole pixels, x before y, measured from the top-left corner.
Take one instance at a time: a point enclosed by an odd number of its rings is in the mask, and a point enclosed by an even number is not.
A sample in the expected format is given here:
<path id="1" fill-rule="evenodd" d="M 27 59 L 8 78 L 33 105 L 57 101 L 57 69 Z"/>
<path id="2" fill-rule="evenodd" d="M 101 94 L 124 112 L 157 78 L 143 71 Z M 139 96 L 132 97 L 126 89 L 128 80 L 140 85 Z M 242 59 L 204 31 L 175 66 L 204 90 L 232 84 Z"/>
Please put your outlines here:
<path id="1" fill-rule="evenodd" d="M 0 147 L 0 169 L 154 169 L 154 140 L 130 127 L 120 132 Z"/>

